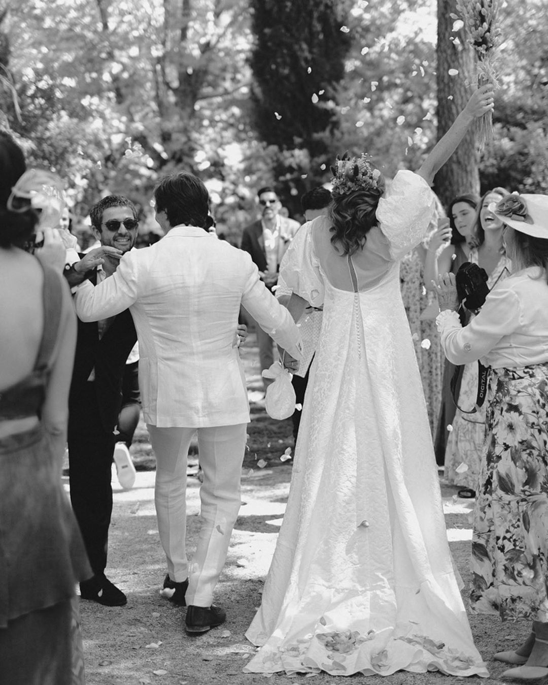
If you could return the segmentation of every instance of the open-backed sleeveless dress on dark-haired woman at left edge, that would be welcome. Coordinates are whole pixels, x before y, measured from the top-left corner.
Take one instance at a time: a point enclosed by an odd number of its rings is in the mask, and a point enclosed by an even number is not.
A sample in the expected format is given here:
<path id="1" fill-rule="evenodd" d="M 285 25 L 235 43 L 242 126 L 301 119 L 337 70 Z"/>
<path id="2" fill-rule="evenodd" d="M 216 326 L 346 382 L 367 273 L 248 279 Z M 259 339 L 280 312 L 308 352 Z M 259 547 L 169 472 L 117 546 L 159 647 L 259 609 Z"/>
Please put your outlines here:
<path id="1" fill-rule="evenodd" d="M 62 277 L 44 268 L 38 357 L 27 377 L 0 393 L 0 423 L 40 417 L 69 302 L 62 288 Z M 0 674 L 10 685 L 84 682 L 75 584 L 91 571 L 61 470 L 41 423 L 0 438 Z"/>

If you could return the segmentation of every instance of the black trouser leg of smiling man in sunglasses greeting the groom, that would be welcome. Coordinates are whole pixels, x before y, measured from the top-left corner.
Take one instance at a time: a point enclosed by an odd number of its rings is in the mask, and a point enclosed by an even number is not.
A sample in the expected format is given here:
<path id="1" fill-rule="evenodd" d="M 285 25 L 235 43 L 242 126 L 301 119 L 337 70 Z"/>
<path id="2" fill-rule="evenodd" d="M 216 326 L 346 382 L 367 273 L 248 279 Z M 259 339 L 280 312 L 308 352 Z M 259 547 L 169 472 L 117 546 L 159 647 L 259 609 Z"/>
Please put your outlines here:
<path id="1" fill-rule="evenodd" d="M 113 451 L 112 432 L 101 423 L 94 383 L 88 382 L 69 406 L 68 463 L 70 501 L 95 574 L 107 565 Z"/>

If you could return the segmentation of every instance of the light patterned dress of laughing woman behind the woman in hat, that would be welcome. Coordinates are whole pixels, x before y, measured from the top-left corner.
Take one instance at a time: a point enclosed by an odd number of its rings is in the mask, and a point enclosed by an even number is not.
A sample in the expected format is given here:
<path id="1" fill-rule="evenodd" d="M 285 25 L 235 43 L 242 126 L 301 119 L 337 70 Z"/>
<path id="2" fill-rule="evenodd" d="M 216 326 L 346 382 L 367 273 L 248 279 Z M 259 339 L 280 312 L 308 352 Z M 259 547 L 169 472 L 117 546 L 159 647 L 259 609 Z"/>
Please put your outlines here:
<path id="1" fill-rule="evenodd" d="M 469 262 L 478 264 L 478 248 L 471 250 Z M 488 277 L 489 289 L 510 275 L 512 263 L 506 255 L 501 255 L 493 273 Z M 470 411 L 478 395 L 478 362 L 466 364 L 462 371 L 458 406 L 448 431 L 445 448 L 445 478 L 450 485 L 477 490 L 480 479 L 480 462 L 485 440 L 485 402 L 478 412 L 465 414 L 461 409 Z M 447 427 L 446 427 L 447 429 Z"/>

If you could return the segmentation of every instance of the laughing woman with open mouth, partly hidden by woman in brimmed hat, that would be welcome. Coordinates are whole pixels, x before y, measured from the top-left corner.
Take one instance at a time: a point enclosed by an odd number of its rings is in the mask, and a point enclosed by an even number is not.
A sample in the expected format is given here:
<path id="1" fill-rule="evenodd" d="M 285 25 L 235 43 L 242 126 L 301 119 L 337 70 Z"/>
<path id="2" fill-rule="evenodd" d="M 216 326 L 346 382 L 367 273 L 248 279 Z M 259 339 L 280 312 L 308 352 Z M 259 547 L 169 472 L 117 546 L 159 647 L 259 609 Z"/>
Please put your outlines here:
<path id="1" fill-rule="evenodd" d="M 475 214 L 473 239 L 476 247 L 468 254 L 468 261 L 485 269 L 487 285 L 493 288 L 510 273 L 510 260 L 504 251 L 504 224 L 489 209 L 508 192 L 495 188 L 486 192 Z M 459 497 L 475 497 L 480 473 L 480 457 L 485 438 L 485 406 L 472 412 L 478 395 L 478 364 L 465 364 L 462 369 L 452 431 L 445 448 L 445 478 L 451 485 L 460 486 Z M 469 413 L 472 412 L 472 413 Z"/>

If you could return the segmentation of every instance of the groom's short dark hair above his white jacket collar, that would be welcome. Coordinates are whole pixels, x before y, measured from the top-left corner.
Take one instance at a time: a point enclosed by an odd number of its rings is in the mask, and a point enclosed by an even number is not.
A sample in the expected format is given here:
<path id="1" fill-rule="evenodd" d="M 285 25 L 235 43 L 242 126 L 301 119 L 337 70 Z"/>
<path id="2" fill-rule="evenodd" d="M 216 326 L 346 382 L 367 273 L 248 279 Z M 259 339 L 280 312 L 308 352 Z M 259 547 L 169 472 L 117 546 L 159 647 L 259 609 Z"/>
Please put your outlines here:
<path id="1" fill-rule="evenodd" d="M 209 193 L 197 176 L 179 171 L 164 176 L 154 189 L 157 212 L 166 212 L 170 225 L 204 228 L 209 213 Z"/>

